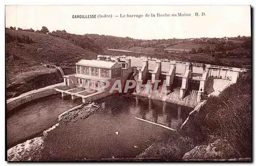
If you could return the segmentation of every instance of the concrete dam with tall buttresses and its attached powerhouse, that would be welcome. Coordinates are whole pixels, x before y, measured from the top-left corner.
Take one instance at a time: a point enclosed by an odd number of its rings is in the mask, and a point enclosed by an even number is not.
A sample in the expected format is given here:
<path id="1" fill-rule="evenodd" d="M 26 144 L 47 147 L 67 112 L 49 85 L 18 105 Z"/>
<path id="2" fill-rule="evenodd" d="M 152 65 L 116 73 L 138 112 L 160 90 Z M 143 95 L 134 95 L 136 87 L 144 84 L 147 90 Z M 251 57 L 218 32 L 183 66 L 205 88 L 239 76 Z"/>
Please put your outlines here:
<path id="1" fill-rule="evenodd" d="M 86 103 L 123 92 L 123 87 L 128 86 L 134 88 L 133 94 L 137 96 L 195 107 L 202 97 L 218 95 L 236 83 L 239 74 L 247 70 L 168 59 L 98 55 L 97 60 L 77 62 L 76 74 L 63 76 L 65 85 L 55 90 L 62 97 L 71 95 L 72 100 L 82 98 Z M 130 86 L 131 82 L 127 85 L 126 80 L 131 78 L 136 87 Z M 115 88 L 119 85 L 122 91 Z"/>

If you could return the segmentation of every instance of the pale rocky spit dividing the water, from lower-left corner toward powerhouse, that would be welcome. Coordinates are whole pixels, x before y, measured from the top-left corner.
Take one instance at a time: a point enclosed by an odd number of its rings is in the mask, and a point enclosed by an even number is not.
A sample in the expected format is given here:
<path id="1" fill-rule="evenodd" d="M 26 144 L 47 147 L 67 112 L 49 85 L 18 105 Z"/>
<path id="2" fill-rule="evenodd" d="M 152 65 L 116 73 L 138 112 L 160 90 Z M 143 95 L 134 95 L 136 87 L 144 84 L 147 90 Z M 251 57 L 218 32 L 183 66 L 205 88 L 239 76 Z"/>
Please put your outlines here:
<path id="1" fill-rule="evenodd" d="M 76 117 L 80 117 L 81 120 L 92 115 L 98 110 L 94 102 L 89 104 L 81 104 L 74 108 L 71 108 L 58 116 L 58 123 L 48 128 L 42 133 L 42 136 L 35 137 L 33 139 L 27 140 L 22 144 L 18 144 L 7 151 L 8 161 L 37 161 L 41 160 L 41 150 L 46 146 L 44 140 L 48 135 L 48 132 L 55 129 L 57 126 L 66 124 L 71 120 L 76 122 Z"/>

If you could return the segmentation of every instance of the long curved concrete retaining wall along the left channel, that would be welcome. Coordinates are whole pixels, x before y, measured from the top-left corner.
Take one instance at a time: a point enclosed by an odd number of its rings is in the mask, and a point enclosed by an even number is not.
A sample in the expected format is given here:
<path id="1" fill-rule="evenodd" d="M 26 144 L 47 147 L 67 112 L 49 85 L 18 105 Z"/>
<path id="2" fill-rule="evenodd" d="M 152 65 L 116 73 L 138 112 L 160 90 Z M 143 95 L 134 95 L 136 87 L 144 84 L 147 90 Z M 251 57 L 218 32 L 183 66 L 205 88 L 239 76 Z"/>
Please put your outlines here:
<path id="1" fill-rule="evenodd" d="M 12 110 L 22 104 L 30 102 L 32 100 L 59 93 L 59 92 L 55 91 L 54 88 L 61 86 L 62 84 L 63 83 L 59 83 L 59 84 L 50 85 L 50 86 L 47 86 L 44 88 L 32 90 L 32 91 L 20 94 L 20 96 L 18 96 L 16 98 L 9 99 L 9 100 L 7 100 L 6 111 L 9 112 L 10 110 Z"/>

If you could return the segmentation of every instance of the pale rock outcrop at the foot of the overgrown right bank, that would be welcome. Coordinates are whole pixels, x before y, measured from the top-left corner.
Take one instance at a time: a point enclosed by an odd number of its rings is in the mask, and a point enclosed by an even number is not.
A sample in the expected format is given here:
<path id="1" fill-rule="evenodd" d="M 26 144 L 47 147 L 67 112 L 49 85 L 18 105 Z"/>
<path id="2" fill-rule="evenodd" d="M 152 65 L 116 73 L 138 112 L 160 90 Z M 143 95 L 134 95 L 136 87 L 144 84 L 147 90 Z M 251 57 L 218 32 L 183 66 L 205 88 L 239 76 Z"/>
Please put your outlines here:
<path id="1" fill-rule="evenodd" d="M 238 158 L 239 153 L 227 140 L 217 139 L 209 145 L 202 145 L 193 148 L 184 154 L 182 159 L 229 159 Z"/>

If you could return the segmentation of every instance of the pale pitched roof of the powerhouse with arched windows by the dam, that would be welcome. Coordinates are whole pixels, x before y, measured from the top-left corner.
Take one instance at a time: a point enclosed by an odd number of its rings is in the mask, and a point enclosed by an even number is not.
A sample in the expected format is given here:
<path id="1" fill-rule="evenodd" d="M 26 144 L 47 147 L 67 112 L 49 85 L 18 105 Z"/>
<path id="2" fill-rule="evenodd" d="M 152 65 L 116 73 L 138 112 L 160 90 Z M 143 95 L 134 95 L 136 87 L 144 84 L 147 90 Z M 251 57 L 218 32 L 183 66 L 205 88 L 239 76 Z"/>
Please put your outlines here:
<path id="1" fill-rule="evenodd" d="M 121 68 L 122 66 L 117 62 L 109 62 L 103 60 L 86 60 L 81 59 L 76 63 L 76 65 L 84 65 L 91 67 L 100 67 L 100 68 Z"/>

